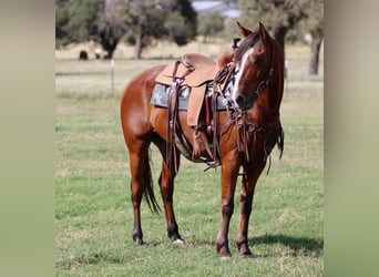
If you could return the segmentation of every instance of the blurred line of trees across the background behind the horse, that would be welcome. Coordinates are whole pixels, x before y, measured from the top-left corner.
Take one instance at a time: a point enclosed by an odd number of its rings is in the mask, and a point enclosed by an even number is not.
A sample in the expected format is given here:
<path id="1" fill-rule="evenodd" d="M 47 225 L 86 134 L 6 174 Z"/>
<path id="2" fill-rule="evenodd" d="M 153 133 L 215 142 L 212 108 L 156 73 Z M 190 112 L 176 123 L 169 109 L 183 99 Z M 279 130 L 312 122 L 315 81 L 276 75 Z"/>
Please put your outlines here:
<path id="1" fill-rule="evenodd" d="M 318 73 L 318 57 L 324 39 L 324 0 L 223 0 L 240 8 L 243 24 L 258 21 L 274 34 L 285 52 L 288 41 L 311 34 L 309 74 Z M 233 21 L 233 30 L 235 21 Z M 191 0 L 55 0 L 55 45 L 96 41 L 111 59 L 120 41 L 135 45 L 134 58 L 154 40 L 171 40 L 184 45 L 203 35 L 221 35 L 227 20 L 218 12 L 197 14 Z M 229 34 L 235 35 L 235 34 Z M 229 38 L 233 39 L 232 37 Z"/>

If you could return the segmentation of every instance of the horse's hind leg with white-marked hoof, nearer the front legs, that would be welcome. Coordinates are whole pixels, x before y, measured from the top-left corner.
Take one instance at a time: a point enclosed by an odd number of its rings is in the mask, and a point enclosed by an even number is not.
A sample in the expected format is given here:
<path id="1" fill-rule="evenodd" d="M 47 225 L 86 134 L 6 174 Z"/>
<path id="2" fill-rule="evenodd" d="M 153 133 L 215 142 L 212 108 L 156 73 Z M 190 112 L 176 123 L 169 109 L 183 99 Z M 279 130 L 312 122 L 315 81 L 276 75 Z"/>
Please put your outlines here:
<path id="1" fill-rule="evenodd" d="M 155 141 L 156 146 L 160 148 L 163 161 L 162 161 L 162 172 L 160 176 L 160 187 L 162 199 L 164 204 L 164 213 L 166 218 L 167 226 L 167 236 L 177 244 L 183 245 L 184 240 L 182 239 L 178 233 L 178 226 L 175 219 L 174 206 L 173 206 L 173 195 L 174 195 L 174 178 L 176 176 L 174 168 L 168 168 L 166 155 L 166 143 L 163 140 Z M 176 162 L 176 168 L 180 167 L 180 154 L 176 153 L 176 160 L 172 160 Z M 175 165 L 173 166 L 175 167 Z"/>

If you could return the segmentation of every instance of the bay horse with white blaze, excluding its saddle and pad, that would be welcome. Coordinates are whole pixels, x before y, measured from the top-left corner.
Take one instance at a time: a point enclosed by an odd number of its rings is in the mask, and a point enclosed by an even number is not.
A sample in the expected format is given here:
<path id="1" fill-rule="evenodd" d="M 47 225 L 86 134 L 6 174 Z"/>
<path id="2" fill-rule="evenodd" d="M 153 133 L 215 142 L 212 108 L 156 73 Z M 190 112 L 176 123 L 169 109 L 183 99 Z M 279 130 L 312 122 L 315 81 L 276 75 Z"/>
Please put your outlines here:
<path id="1" fill-rule="evenodd" d="M 228 58 L 223 57 L 221 59 L 223 64 L 218 64 L 229 68 L 227 80 L 224 82 L 227 84 L 224 88 L 228 89 L 217 90 L 215 81 L 212 81 L 214 94 L 222 94 L 226 100 L 224 110 L 213 112 L 213 132 L 216 140 L 214 148 L 217 148 L 213 152 L 216 155 L 206 151 L 204 144 L 201 146 L 201 156 L 204 157 L 202 161 L 217 161 L 217 165 L 221 166 L 221 225 L 216 250 L 222 259 L 232 257 L 228 228 L 234 212 L 238 177 L 242 176 L 242 189 L 235 244 L 243 257 L 252 257 L 253 253 L 248 246 L 248 225 L 254 191 L 267 161 L 270 162 L 272 150 L 277 145 L 280 158 L 284 148 L 284 131 L 279 114 L 284 89 L 281 48 L 262 22 L 255 31 L 239 22 L 237 28 L 244 37 L 240 45 L 234 51 L 226 51 L 231 54 Z M 120 116 L 130 155 L 133 240 L 136 245 L 144 243 L 141 227 L 143 196 L 153 212 L 161 211 L 152 185 L 151 143 L 157 146 L 163 157 L 158 185 L 167 236 L 174 243 L 184 244 L 173 206 L 174 178 L 180 168 L 182 152 L 177 151 L 175 141 L 170 142 L 171 127 L 167 122 L 171 111 L 150 103 L 156 78 L 166 66 L 166 64 L 156 65 L 137 74 L 126 84 L 121 95 Z M 194 146 L 194 127 L 187 124 L 187 112 L 176 111 L 176 125 L 180 126 L 183 138 L 190 147 Z M 239 173 L 240 168 L 242 173 Z"/>

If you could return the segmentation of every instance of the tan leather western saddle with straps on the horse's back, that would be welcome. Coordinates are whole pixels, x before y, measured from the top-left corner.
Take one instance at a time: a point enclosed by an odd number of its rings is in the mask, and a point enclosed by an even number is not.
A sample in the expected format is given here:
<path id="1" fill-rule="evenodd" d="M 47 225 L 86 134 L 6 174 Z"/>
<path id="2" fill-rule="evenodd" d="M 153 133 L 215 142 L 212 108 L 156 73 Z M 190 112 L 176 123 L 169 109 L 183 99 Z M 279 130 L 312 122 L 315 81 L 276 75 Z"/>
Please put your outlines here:
<path id="1" fill-rule="evenodd" d="M 222 54 L 223 55 L 223 54 Z M 224 53 L 225 57 L 225 53 Z M 222 63 L 226 63 L 225 59 L 222 59 Z M 213 113 L 211 112 L 209 107 L 209 98 L 206 96 L 207 85 L 214 82 L 219 75 L 219 72 L 224 69 L 225 72 L 225 64 L 221 64 L 221 60 L 216 63 L 212 59 L 197 54 L 197 53 L 187 53 L 184 54 L 180 60 L 174 63 L 168 64 L 161 73 L 156 76 L 155 82 L 165 84 L 170 86 L 168 90 L 168 122 L 167 122 L 167 130 L 168 130 L 168 137 L 167 137 L 167 158 L 168 158 L 168 166 L 171 166 L 170 157 L 175 156 L 172 155 L 175 153 L 175 145 L 180 148 L 182 154 L 184 154 L 187 158 L 194 162 L 206 162 L 209 166 L 217 166 L 219 165 L 218 157 L 219 154 L 217 153 L 217 138 L 216 132 L 213 130 L 212 132 L 204 132 L 202 127 L 201 121 L 201 113 L 203 106 L 205 111 L 205 119 L 206 122 L 211 125 L 211 117 Z M 232 61 L 232 57 L 229 62 Z M 227 66 L 231 69 L 232 66 Z M 227 82 L 227 79 L 231 74 L 232 70 L 227 72 L 227 78 L 223 78 L 223 85 Z M 218 82 L 218 85 L 221 82 Z M 177 95 L 178 90 L 183 86 L 190 86 L 191 93 L 188 96 L 188 106 L 187 106 L 187 124 L 188 126 L 194 129 L 193 133 L 193 147 L 191 150 L 190 144 L 183 142 L 184 136 L 181 133 L 177 126 Z M 213 94 L 215 94 L 215 84 L 213 83 Z M 204 120 L 203 120 L 204 121 Z M 215 124 L 213 124 L 215 126 Z M 213 129 L 214 129 L 213 126 Z M 213 133 L 213 135 L 211 135 Z M 212 146 L 209 145 L 208 141 L 212 142 Z M 183 142 L 183 143 L 181 143 Z M 206 150 L 208 155 L 212 157 L 212 162 L 204 161 L 201 158 L 202 148 Z M 211 150 L 213 148 L 213 151 Z M 192 152 L 192 153 L 191 153 Z M 176 163 L 174 163 L 176 164 Z M 177 168 L 175 168 L 175 172 Z"/>

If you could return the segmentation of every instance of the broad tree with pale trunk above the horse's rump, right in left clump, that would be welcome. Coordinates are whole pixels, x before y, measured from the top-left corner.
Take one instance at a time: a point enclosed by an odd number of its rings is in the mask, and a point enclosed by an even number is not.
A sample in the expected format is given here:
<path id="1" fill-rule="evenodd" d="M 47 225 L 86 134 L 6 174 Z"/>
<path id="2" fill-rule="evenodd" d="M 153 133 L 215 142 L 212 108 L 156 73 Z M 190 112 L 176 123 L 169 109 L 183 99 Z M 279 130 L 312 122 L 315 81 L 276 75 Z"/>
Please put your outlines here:
<path id="1" fill-rule="evenodd" d="M 183 45 L 196 34 L 196 13 L 188 0 L 109 0 L 103 22 L 135 45 L 135 59 L 152 39 L 170 38 Z"/>

